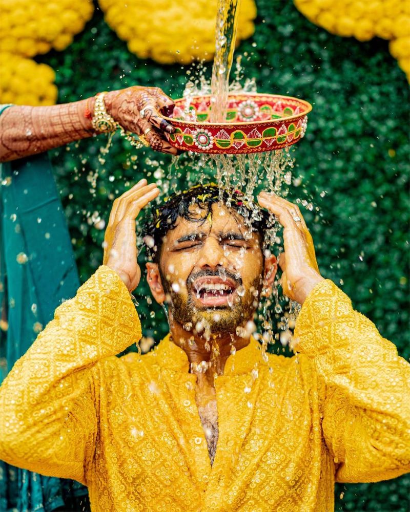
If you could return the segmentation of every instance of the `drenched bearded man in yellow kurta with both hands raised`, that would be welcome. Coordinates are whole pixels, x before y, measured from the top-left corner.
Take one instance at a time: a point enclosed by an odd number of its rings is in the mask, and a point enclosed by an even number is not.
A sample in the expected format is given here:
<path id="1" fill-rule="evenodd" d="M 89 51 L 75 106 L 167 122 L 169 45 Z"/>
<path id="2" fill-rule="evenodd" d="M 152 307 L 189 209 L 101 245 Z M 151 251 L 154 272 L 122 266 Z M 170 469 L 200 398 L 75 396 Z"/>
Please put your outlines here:
<path id="1" fill-rule="evenodd" d="M 320 276 L 299 209 L 275 195 L 258 200 L 284 228 L 296 355 L 266 355 L 252 336 L 277 266 L 263 215 L 247 220 L 240 197 L 228 208 L 209 186 L 159 208 L 147 240 L 170 335 L 115 357 L 141 337 L 135 219 L 158 193 L 141 180 L 114 202 L 104 265 L 5 380 L 0 457 L 83 482 L 94 512 L 324 512 L 335 481 L 409 471 L 410 366 Z"/>

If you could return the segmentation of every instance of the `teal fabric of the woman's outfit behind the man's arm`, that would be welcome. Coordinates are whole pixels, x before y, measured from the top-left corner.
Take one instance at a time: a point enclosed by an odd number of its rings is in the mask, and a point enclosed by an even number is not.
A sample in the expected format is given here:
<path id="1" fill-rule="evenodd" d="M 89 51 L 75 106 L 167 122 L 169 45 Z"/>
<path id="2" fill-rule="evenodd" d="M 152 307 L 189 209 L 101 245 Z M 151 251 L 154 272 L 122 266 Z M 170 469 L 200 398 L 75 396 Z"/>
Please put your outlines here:
<path id="1" fill-rule="evenodd" d="M 47 154 L 0 167 L 1 382 L 79 280 Z M 0 462 L 2 512 L 89 509 L 87 488 L 78 482 Z"/>

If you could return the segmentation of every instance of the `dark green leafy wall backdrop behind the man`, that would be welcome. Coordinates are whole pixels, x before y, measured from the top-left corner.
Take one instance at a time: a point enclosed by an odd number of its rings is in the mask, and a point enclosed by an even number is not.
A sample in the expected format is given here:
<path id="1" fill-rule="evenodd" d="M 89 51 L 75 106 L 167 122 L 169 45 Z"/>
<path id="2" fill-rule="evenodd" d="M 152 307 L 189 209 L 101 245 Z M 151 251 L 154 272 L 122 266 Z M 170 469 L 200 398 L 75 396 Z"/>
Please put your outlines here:
<path id="1" fill-rule="evenodd" d="M 258 0 L 257 6 L 255 35 L 238 49 L 245 76 L 256 77 L 262 92 L 298 96 L 314 107 L 294 152 L 291 198 L 307 198 L 319 207 L 306 212 L 306 221 L 322 274 L 408 359 L 405 75 L 384 40 L 333 36 L 288 0 Z M 132 55 L 98 8 L 65 52 L 37 60 L 56 70 L 59 102 L 133 84 L 155 85 L 176 98 L 187 80 L 180 65 L 160 66 Z M 101 264 L 104 229 L 98 229 L 98 218 L 108 220 L 112 199 L 142 176 L 166 179 L 169 172 L 168 157 L 136 152 L 119 138 L 102 165 L 97 156 L 104 144 L 98 137 L 51 152 L 81 281 Z M 161 309 L 147 303 L 148 295 L 142 285 L 137 299 L 144 334 L 158 340 L 167 324 Z M 408 491 L 408 476 L 337 484 L 336 510 L 409 510 Z"/>

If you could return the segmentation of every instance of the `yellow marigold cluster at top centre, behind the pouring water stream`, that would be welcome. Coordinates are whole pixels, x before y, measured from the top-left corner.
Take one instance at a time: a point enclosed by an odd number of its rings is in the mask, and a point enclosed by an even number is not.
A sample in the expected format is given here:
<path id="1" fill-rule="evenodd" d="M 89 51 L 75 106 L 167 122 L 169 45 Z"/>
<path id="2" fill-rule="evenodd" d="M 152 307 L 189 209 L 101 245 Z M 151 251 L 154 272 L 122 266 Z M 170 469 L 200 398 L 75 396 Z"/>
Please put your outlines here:
<path id="1" fill-rule="evenodd" d="M 139 58 L 162 64 L 212 60 L 215 53 L 217 0 L 98 0 L 108 25 Z M 255 27 L 254 0 L 242 0 L 237 40 L 250 37 Z"/>

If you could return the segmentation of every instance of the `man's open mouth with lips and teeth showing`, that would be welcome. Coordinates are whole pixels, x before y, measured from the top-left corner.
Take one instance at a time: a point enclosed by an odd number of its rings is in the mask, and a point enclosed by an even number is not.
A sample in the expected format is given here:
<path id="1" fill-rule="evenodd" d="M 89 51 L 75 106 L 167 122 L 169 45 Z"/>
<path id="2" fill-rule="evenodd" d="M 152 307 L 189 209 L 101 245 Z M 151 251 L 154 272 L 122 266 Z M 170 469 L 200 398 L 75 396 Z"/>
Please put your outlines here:
<path id="1" fill-rule="evenodd" d="M 236 285 L 230 279 L 207 276 L 194 283 L 194 295 L 202 306 L 232 306 Z"/>

